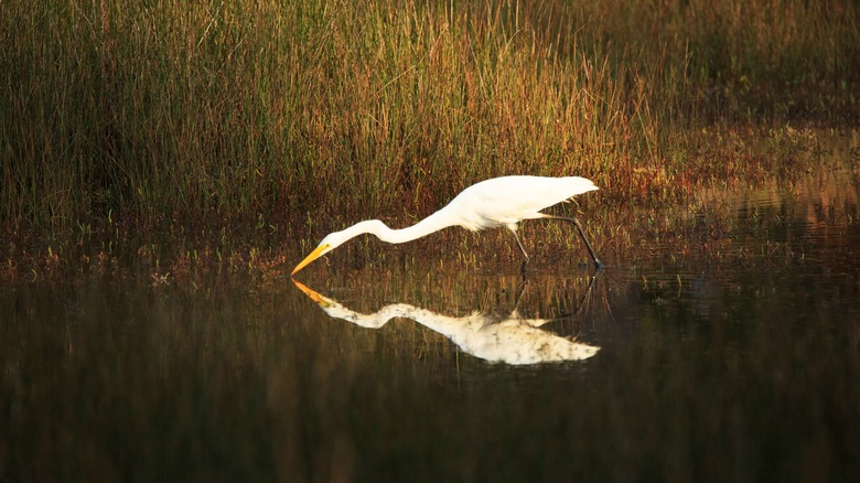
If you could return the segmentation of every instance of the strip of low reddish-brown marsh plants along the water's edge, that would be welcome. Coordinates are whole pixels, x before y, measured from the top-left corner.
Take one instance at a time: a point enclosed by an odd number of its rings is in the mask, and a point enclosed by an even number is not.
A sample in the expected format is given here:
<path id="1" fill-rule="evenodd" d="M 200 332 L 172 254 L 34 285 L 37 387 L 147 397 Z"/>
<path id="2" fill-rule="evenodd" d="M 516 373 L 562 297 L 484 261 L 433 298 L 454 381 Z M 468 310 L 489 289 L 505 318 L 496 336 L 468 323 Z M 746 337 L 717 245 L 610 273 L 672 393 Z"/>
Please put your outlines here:
<path id="1" fill-rule="evenodd" d="M 821 236 L 843 243 L 846 234 L 858 226 L 856 130 L 834 138 L 786 128 L 763 137 L 724 136 L 722 142 L 719 153 L 700 148 L 699 155 L 728 160 L 725 170 L 733 173 L 729 180 L 687 180 L 695 190 L 673 197 L 652 191 L 653 184 L 647 182 L 666 173 L 638 170 L 634 174 L 641 191 L 633 196 L 601 190 L 548 212 L 578 216 L 610 270 L 690 260 L 778 267 L 805 260 L 805 242 L 773 237 L 772 233 L 797 232 L 809 224 L 810 233 L 821 229 Z M 785 200 L 785 206 L 776 212 L 775 200 Z M 344 225 L 351 223 L 338 219 Z M 386 221 L 402 226 L 412 219 Z M 297 240 L 298 230 L 265 223 L 245 228 L 241 224 L 194 228 L 201 225 L 205 223 L 168 221 L 151 229 L 135 229 L 128 223 L 107 221 L 77 224 L 46 236 L 10 236 L 0 245 L 0 281 L 58 283 L 103 273 L 192 292 L 206 290 L 209 283 L 241 279 L 249 290 L 258 290 L 281 286 L 319 242 L 314 236 Z M 570 224 L 526 221 L 519 235 L 531 258 L 530 275 L 591 271 L 588 250 Z M 739 237 L 743 244 L 738 244 Z M 315 280 L 314 272 L 324 279 L 350 273 L 361 286 L 361 279 L 384 278 L 390 270 L 517 278 L 520 261 L 522 254 L 507 229 L 471 233 L 452 227 L 401 245 L 357 237 L 315 262 L 310 272 L 302 273 L 302 280 Z"/>

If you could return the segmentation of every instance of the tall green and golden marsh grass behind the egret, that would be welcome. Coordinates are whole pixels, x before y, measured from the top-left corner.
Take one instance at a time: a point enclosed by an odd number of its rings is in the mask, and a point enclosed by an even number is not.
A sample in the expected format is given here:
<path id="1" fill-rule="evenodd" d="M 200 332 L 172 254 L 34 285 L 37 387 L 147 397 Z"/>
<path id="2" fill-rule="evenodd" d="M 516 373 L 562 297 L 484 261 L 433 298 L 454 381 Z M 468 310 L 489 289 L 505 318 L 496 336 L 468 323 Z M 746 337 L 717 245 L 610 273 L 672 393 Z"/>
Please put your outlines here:
<path id="1" fill-rule="evenodd" d="M 691 126 L 856 122 L 857 21 L 847 0 L 4 1 L 0 219 L 307 233 L 509 173 L 665 192 L 710 162 Z"/>

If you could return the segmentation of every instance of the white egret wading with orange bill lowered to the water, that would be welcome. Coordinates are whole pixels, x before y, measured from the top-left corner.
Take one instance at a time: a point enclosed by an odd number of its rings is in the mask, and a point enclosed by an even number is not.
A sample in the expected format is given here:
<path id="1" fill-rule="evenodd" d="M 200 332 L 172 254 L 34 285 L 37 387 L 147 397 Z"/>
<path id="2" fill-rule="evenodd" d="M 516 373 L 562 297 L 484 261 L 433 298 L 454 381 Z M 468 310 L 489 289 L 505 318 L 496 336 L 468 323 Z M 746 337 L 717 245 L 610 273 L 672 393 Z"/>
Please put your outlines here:
<path id="1" fill-rule="evenodd" d="M 519 239 L 519 235 L 517 235 L 517 223 L 523 219 L 540 218 L 562 219 L 573 223 L 579 230 L 580 237 L 582 237 L 582 242 L 589 249 L 592 260 L 594 260 L 594 267 L 600 269 L 603 265 L 594 255 L 594 249 L 585 237 L 582 225 L 576 217 L 540 213 L 544 208 L 594 190 L 598 190 L 598 186 L 591 180 L 580 176 L 493 178 L 466 187 L 451 200 L 445 207 L 410 227 L 391 229 L 378 219 L 368 219 L 356 223 L 344 230 L 330 233 L 310 255 L 295 266 L 292 275 L 295 275 L 311 261 L 337 248 L 346 240 L 365 233 L 376 235 L 380 240 L 389 244 L 400 244 L 411 242 L 449 226 L 458 225 L 472 232 L 501 226 L 507 227 L 514 234 L 517 246 L 519 246 L 519 250 L 523 251 L 523 257 L 525 257 L 522 266 L 523 273 L 525 273 L 528 254 L 526 254 L 523 242 Z"/>

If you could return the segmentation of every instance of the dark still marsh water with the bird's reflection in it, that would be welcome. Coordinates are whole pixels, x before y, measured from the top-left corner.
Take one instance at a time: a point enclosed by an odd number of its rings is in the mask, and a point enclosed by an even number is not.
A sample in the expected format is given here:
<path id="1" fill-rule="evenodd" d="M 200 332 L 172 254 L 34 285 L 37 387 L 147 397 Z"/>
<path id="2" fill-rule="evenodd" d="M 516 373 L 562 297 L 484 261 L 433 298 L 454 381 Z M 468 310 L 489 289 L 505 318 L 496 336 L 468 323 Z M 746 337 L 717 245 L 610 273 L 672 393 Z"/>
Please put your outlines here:
<path id="1" fill-rule="evenodd" d="M 845 161 L 705 192 L 664 214 L 697 235 L 604 244 L 598 273 L 406 247 L 298 282 L 22 277 L 0 294 L 0 480 L 851 480 Z"/>

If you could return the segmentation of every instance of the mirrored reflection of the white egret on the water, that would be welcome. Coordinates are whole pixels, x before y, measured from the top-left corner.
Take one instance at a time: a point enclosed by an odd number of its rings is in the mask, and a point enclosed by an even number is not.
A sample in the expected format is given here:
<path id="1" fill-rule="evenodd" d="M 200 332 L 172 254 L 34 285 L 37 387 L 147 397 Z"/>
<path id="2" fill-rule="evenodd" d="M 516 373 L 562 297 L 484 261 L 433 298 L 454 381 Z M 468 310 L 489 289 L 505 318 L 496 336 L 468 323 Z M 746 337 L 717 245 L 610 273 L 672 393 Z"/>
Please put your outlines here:
<path id="1" fill-rule="evenodd" d="M 450 339 L 463 352 L 492 363 L 527 365 L 581 361 L 600 351 L 600 347 L 540 329 L 558 319 L 525 319 L 516 308 L 507 316 L 473 312 L 456 318 L 408 303 L 393 303 L 375 313 L 365 314 L 321 296 L 295 280 L 293 283 L 335 319 L 343 319 L 366 329 L 379 329 L 395 318 L 412 319 Z"/>

